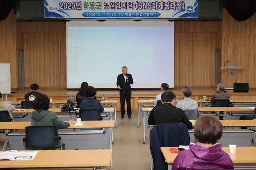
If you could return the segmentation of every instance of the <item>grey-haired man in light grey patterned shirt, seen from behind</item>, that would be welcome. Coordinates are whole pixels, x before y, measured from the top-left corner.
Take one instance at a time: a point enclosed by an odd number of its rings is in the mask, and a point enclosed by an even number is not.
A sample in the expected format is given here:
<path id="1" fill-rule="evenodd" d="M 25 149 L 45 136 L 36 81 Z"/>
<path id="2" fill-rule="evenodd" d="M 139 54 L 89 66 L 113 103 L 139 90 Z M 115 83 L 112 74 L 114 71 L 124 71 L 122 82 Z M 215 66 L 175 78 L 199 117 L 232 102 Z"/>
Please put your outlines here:
<path id="1" fill-rule="evenodd" d="M 192 95 L 192 88 L 189 86 L 185 86 L 182 89 L 182 97 L 184 98 L 183 101 L 180 101 L 177 103 L 176 107 L 183 109 L 183 110 L 189 110 L 189 109 L 198 109 L 198 103 L 196 101 L 193 101 L 190 96 Z"/>

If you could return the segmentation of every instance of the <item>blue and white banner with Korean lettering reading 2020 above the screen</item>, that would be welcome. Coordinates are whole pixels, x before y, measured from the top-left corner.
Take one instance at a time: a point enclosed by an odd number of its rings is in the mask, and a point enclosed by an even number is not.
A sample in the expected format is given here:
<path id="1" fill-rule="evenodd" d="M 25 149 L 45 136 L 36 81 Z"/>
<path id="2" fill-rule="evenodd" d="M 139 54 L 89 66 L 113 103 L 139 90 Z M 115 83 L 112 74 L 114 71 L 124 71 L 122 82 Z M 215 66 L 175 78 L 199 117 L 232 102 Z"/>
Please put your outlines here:
<path id="1" fill-rule="evenodd" d="M 44 0 L 45 18 L 197 18 L 198 0 Z"/>

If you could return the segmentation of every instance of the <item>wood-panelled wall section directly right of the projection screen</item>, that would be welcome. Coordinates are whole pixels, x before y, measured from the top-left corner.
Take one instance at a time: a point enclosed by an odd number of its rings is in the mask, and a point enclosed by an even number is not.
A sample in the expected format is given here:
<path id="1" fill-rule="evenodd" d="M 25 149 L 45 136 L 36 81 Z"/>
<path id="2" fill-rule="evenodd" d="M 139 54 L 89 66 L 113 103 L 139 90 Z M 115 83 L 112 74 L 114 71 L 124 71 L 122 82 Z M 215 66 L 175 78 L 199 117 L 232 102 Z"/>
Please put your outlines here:
<path id="1" fill-rule="evenodd" d="M 214 86 L 212 32 L 175 32 L 175 86 Z"/>

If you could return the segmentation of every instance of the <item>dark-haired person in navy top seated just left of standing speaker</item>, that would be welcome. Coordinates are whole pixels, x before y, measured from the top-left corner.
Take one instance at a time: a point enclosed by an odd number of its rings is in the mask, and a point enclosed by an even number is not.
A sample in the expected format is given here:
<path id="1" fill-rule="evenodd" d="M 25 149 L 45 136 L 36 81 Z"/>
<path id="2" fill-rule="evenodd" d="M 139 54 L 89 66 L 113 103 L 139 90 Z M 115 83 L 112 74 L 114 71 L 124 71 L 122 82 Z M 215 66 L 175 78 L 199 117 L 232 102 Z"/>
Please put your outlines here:
<path id="1" fill-rule="evenodd" d="M 104 111 L 104 108 L 99 101 L 96 101 L 93 97 L 96 95 L 96 89 L 93 86 L 88 86 L 84 92 L 84 96 L 88 96 L 80 104 L 80 109 L 99 109 L 100 112 Z"/>

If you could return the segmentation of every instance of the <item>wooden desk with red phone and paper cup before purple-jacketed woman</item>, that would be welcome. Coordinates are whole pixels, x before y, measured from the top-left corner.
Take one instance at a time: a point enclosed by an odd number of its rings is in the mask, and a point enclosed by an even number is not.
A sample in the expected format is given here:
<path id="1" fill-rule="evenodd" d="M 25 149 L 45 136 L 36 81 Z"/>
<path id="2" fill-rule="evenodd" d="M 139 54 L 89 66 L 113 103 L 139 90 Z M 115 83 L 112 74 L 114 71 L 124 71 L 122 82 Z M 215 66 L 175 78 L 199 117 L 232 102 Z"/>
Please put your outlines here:
<path id="1" fill-rule="evenodd" d="M 231 142 L 232 143 L 232 142 Z M 177 153 L 171 153 L 170 147 L 161 147 L 166 162 L 168 163 L 168 170 L 172 169 L 172 163 Z M 176 147 L 177 148 L 177 147 Z M 229 147 L 222 147 L 222 150 L 230 152 Z M 239 167 L 241 170 L 250 167 L 250 170 L 256 169 L 256 147 L 236 147 L 236 153 L 231 153 L 230 158 L 233 161 L 234 168 Z M 248 169 L 249 170 L 249 169 Z"/>

